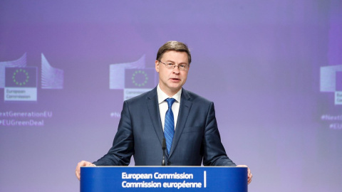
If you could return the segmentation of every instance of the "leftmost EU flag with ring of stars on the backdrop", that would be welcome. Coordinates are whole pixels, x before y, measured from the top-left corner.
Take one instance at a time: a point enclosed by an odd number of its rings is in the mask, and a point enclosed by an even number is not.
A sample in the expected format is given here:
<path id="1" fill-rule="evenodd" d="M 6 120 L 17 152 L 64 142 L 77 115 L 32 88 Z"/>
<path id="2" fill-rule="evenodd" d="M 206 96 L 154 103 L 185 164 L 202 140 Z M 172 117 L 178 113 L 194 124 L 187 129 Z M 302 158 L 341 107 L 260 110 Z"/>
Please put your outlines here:
<path id="1" fill-rule="evenodd" d="M 5 87 L 37 87 L 37 68 L 6 68 Z"/>

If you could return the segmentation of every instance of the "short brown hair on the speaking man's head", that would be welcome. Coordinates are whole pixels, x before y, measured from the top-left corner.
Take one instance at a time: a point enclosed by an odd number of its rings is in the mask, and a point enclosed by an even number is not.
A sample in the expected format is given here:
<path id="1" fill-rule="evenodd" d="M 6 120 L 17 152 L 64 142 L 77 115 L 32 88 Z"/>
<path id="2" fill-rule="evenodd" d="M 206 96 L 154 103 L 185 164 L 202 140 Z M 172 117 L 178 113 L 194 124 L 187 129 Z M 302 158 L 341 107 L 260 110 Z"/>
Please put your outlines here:
<path id="1" fill-rule="evenodd" d="M 157 53 L 156 60 L 160 60 L 162 58 L 162 55 L 167 52 L 168 50 L 175 50 L 180 52 L 187 53 L 187 58 L 189 60 L 189 65 L 191 63 L 191 53 L 189 48 L 187 48 L 187 44 L 182 43 L 180 41 L 167 41 L 164 45 L 162 45 Z"/>

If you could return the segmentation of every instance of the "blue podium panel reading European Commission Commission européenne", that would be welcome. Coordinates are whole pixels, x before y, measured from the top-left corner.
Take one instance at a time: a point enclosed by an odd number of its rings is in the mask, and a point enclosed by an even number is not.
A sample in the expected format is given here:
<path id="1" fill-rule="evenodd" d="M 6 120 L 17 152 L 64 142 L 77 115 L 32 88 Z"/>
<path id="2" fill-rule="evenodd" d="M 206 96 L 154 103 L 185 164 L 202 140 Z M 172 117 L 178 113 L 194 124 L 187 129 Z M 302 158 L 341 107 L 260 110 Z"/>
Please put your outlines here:
<path id="1" fill-rule="evenodd" d="M 229 166 L 81 167 L 81 192 L 247 192 L 247 168 Z"/>

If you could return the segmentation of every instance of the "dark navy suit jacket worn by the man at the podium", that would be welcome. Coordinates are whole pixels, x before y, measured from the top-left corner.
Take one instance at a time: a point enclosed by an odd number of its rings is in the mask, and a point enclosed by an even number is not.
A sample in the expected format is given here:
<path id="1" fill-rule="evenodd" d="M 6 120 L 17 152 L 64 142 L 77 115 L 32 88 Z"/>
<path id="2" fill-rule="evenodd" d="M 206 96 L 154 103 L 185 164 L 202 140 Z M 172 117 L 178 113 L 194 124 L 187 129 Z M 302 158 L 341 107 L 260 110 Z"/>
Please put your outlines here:
<path id="1" fill-rule="evenodd" d="M 160 166 L 163 137 L 155 87 L 123 103 L 113 146 L 94 164 L 128 165 L 133 155 L 136 166 Z M 175 136 L 166 159 L 170 166 L 200 166 L 202 161 L 204 166 L 235 166 L 222 146 L 213 102 L 182 89 Z"/>

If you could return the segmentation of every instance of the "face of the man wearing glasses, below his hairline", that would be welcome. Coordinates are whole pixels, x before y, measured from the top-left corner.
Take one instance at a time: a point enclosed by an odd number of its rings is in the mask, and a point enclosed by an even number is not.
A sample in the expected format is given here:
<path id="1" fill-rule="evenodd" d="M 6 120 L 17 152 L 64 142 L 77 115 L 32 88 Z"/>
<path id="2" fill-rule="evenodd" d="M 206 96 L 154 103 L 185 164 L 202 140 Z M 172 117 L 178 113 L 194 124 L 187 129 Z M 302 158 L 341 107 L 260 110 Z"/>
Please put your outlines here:
<path id="1" fill-rule="evenodd" d="M 162 55 L 162 63 L 155 60 L 155 70 L 159 73 L 160 89 L 172 97 L 177 93 L 187 81 L 187 70 L 180 70 L 178 67 L 167 68 L 163 63 L 174 63 L 175 65 L 189 65 L 187 53 L 169 50 Z"/>

